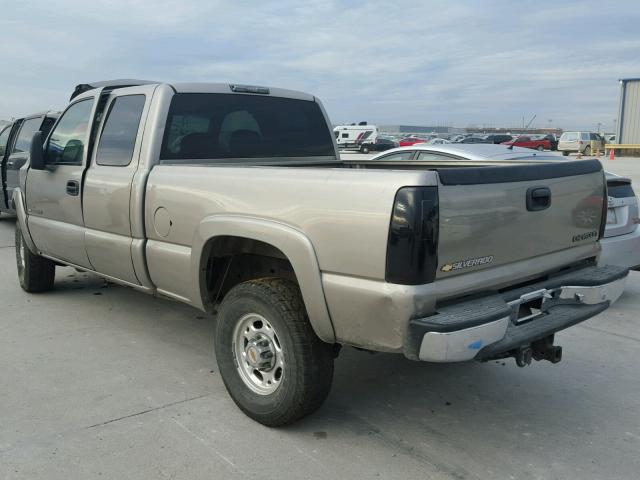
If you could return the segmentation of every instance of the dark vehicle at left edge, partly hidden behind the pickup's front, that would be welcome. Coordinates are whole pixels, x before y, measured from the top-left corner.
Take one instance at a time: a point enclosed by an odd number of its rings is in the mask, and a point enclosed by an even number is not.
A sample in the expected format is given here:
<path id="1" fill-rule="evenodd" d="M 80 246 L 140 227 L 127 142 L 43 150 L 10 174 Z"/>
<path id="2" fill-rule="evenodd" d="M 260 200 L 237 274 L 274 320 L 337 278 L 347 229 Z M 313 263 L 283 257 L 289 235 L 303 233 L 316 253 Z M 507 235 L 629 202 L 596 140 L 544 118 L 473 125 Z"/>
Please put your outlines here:
<path id="1" fill-rule="evenodd" d="M 47 135 L 58 116 L 57 112 L 35 113 L 18 118 L 0 131 L 0 212 L 15 213 L 13 191 L 20 184 L 20 169 L 29 160 L 31 138 L 38 131 Z"/>

